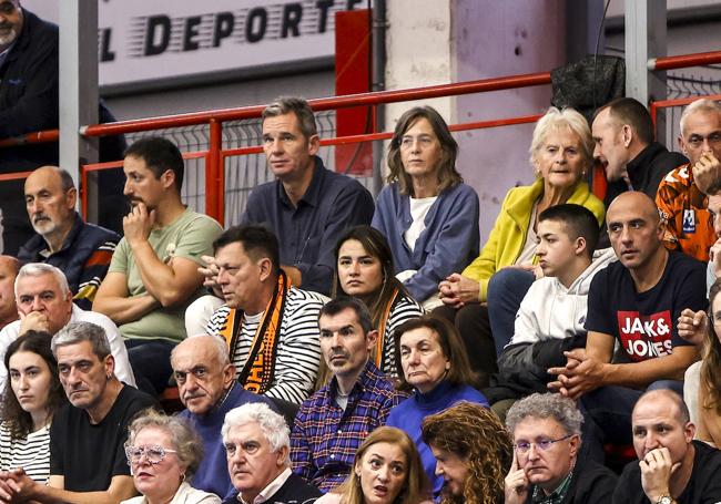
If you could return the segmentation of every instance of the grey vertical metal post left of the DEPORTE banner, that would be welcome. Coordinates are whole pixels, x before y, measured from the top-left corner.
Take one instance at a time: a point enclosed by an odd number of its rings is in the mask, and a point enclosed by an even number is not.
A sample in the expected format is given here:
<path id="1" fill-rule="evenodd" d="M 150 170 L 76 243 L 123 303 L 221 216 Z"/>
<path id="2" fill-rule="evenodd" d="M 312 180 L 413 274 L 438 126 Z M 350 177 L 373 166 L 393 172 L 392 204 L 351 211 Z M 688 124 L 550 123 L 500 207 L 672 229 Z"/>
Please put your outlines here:
<path id="1" fill-rule="evenodd" d="M 60 9 L 60 166 L 80 191 L 80 165 L 98 161 L 98 138 L 80 135 L 83 124 L 98 124 L 98 2 L 63 0 Z M 94 182 L 94 176 L 89 181 Z M 92 184 L 89 184 L 92 185 Z M 95 196 L 97 191 L 90 192 Z M 97 196 L 88 198 L 89 219 L 97 220 Z"/>

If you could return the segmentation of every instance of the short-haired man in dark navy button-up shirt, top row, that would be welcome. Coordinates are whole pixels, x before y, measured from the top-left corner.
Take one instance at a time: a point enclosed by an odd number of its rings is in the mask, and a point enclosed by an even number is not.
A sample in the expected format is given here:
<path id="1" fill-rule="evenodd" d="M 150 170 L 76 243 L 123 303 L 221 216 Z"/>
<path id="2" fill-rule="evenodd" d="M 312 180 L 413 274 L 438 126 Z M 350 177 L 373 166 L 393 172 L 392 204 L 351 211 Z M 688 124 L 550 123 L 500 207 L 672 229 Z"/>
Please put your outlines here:
<path id="1" fill-rule="evenodd" d="M 344 229 L 370 224 L 374 202 L 357 181 L 326 169 L 313 110 L 282 97 L 263 111 L 263 148 L 276 181 L 248 197 L 243 224 L 265 224 L 281 239 L 281 264 L 292 284 L 329 295 L 333 248 Z"/>

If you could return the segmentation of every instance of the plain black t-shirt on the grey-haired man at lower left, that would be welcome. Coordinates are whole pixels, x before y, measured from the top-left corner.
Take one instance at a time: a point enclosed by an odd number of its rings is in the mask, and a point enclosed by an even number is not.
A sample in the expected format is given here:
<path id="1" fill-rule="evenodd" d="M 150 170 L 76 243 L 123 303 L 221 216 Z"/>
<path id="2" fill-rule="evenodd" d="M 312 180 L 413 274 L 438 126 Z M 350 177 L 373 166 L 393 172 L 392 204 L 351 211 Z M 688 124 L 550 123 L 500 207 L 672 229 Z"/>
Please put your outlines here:
<path id="1" fill-rule="evenodd" d="M 129 476 L 123 443 L 128 424 L 139 411 L 156 407 L 155 400 L 123 385 L 100 423 L 90 423 L 85 410 L 67 404 L 50 426 L 50 475 L 64 477 L 64 490 L 105 491 L 113 476 Z"/>

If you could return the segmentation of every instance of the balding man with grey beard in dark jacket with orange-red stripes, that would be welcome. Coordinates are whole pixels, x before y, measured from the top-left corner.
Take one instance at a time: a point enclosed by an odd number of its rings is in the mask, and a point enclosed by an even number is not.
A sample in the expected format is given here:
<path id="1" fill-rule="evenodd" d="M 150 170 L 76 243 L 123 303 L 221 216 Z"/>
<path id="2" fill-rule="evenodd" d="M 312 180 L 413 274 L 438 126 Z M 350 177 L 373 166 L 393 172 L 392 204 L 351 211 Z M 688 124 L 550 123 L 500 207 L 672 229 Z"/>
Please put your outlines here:
<path id="1" fill-rule="evenodd" d="M 26 179 L 24 193 L 28 216 L 37 235 L 22 246 L 18 258 L 22 264 L 48 263 L 60 268 L 68 278 L 74 302 L 90 310 L 120 236 L 83 222 L 75 212 L 78 189 L 62 168 L 35 169 Z"/>

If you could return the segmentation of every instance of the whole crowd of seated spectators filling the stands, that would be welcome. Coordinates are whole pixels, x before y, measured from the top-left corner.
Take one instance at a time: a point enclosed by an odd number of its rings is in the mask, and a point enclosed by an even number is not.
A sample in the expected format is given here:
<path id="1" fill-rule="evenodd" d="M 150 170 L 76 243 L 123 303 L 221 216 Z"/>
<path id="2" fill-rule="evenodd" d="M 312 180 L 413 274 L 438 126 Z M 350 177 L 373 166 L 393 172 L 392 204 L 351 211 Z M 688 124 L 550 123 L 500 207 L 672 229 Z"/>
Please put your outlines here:
<path id="1" fill-rule="evenodd" d="M 3 20 L 2 72 L 52 45 L 17 0 Z M 307 102 L 276 100 L 275 181 L 227 229 L 162 137 L 124 152 L 122 237 L 43 163 L 17 195 L 34 235 L 0 257 L 0 500 L 721 502 L 721 105 L 680 126 L 686 157 L 632 99 L 591 124 L 550 107 L 483 247 L 429 106 L 374 203 L 323 165 Z M 619 475 L 609 446 L 638 460 Z"/>

